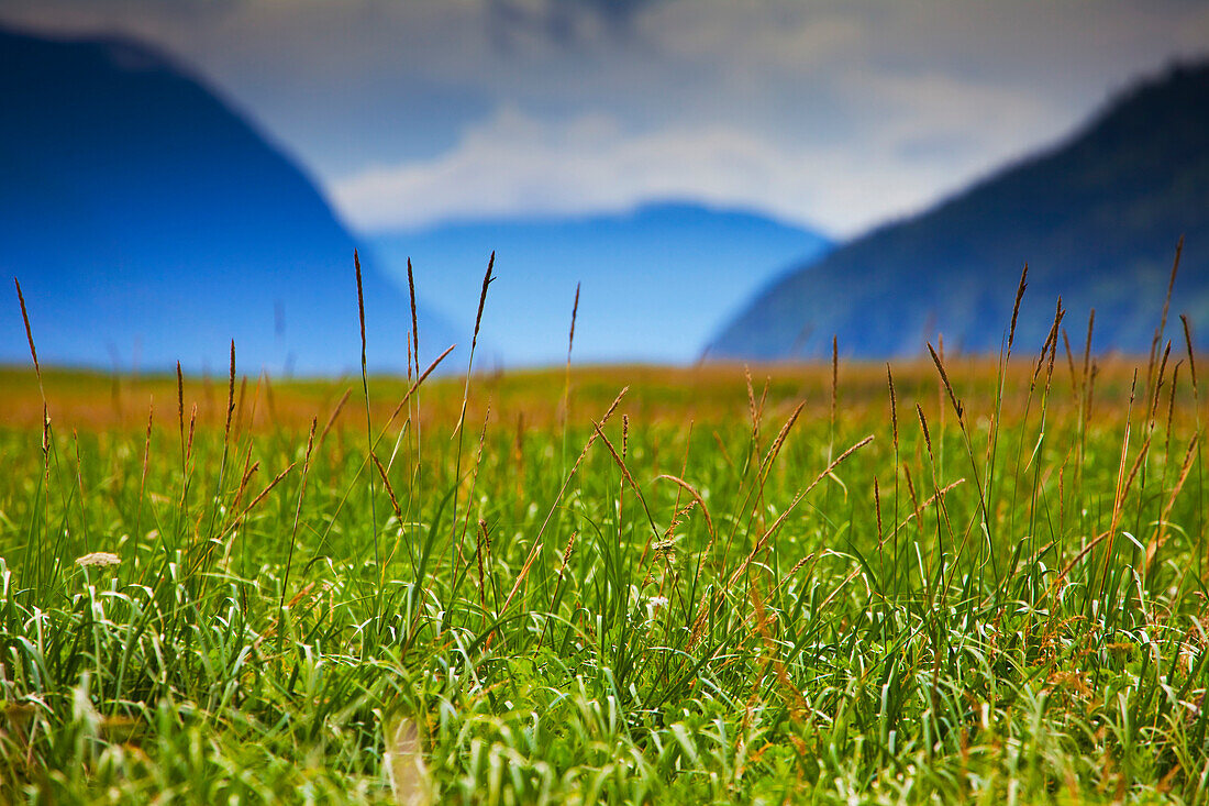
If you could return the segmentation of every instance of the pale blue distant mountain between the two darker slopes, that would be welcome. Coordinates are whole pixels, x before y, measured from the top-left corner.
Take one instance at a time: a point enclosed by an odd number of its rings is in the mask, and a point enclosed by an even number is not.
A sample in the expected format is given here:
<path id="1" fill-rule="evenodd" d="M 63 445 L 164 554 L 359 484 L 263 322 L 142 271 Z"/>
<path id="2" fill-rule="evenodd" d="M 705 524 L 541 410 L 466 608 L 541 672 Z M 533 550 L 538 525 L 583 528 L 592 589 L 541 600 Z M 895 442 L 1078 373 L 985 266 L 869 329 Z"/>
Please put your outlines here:
<path id="1" fill-rule="evenodd" d="M 692 361 L 776 270 L 829 247 L 816 232 L 754 213 L 672 202 L 621 214 L 378 232 L 371 243 L 397 274 L 410 257 L 427 299 L 468 313 L 494 249 L 498 278 L 482 329 L 513 365 L 566 359 L 579 282 L 577 361 Z"/>

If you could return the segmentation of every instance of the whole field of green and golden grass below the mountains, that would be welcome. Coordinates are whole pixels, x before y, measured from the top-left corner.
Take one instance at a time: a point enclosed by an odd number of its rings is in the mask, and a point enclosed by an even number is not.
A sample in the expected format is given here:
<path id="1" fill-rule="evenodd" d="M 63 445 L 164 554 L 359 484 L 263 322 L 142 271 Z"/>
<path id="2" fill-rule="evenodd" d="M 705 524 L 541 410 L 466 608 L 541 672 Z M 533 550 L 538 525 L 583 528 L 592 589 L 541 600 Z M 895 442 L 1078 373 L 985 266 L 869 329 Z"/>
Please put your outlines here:
<path id="1" fill-rule="evenodd" d="M 1192 356 L 1057 333 L 369 401 L 4 370 L 0 801 L 1205 801 Z"/>

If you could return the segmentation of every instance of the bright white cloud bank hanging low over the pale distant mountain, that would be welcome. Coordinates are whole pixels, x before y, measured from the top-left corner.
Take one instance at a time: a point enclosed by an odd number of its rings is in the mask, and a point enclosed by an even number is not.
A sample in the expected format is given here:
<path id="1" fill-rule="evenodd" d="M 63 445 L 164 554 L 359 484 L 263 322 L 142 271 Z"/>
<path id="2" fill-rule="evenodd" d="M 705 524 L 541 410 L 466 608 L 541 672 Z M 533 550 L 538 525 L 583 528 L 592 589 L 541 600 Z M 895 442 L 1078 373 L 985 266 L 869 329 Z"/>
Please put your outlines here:
<path id="1" fill-rule="evenodd" d="M 694 198 L 846 236 L 950 190 L 954 159 L 1010 152 L 1043 117 L 1028 98 L 944 76 L 860 84 L 886 113 L 860 139 L 777 138 L 729 122 L 634 131 L 603 113 L 545 120 L 504 105 L 444 154 L 370 167 L 335 183 L 332 197 L 365 230 Z"/>

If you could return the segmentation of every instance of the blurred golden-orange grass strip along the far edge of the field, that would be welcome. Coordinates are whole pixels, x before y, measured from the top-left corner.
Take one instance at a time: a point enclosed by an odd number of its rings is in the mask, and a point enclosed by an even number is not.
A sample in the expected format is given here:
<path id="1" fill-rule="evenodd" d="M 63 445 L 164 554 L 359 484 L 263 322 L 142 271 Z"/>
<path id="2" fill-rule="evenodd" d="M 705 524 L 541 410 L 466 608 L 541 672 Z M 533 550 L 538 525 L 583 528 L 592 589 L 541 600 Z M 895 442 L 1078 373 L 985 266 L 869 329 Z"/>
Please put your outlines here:
<path id="1" fill-rule="evenodd" d="M 1181 364 L 1185 362 L 1180 362 Z M 994 407 L 996 363 L 989 358 L 948 356 L 945 376 L 932 359 L 921 357 L 892 363 L 895 391 L 899 399 L 922 399 L 929 420 L 953 416 L 951 401 L 962 408 L 989 411 Z M 1036 364 L 1013 361 L 1003 382 L 1002 416 L 1012 421 L 1023 411 Z M 1051 404 L 1094 405 L 1097 418 L 1123 418 L 1138 363 L 1124 357 L 1092 362 L 1094 403 L 1077 370 L 1055 373 Z M 751 368 L 758 391 L 750 397 L 745 368 L 737 364 L 700 367 L 600 365 L 572 368 L 569 396 L 575 405 L 602 409 L 621 386 L 630 386 L 629 413 L 643 421 L 694 421 L 701 425 L 751 416 L 751 407 L 765 398 L 764 408 L 789 411 L 803 403 L 806 420 L 858 420 L 877 413 L 891 418 L 886 364 L 880 362 L 832 362 L 811 364 L 768 364 Z M 1191 373 L 1187 373 L 1191 375 Z M 233 376 L 232 376 L 233 378 Z M 945 388 L 948 380 L 949 388 Z M 1140 380 L 1140 379 L 1139 379 Z M 316 416 L 325 422 L 324 436 L 352 424 L 347 398 L 360 379 L 270 379 L 242 376 L 229 384 L 227 398 L 209 376 L 184 376 L 178 388 L 174 375 L 115 376 L 99 372 L 42 368 L 46 409 L 60 432 L 141 430 L 149 413 L 156 427 L 186 431 L 185 414 L 196 408 L 196 427 L 222 428 L 229 418 L 256 431 L 285 430 L 305 434 Z M 481 420 L 490 405 L 502 422 L 519 422 L 522 428 L 561 425 L 563 368 L 480 373 L 478 393 L 467 402 L 464 416 Z M 371 378 L 371 418 L 387 422 L 406 397 L 407 380 L 397 376 Z M 235 390 L 238 387 L 238 392 Z M 833 391 L 834 390 L 834 391 Z M 455 426 L 462 414 L 465 387 L 461 376 L 430 378 L 418 391 L 423 397 L 424 422 Z M 44 416 L 44 388 L 37 375 L 24 367 L 0 368 L 0 427 L 40 428 Z M 1155 399 L 1146 401 L 1153 409 Z M 951 396 L 951 397 L 950 397 Z M 226 399 L 225 399 L 226 398 Z M 230 405 L 229 399 L 233 401 Z M 833 408 L 834 407 L 834 408 Z M 230 413 L 229 413 L 230 411 Z M 1165 414 L 1165 413 L 1164 413 Z M 175 416 L 173 416 L 175 415 Z M 1174 416 L 1191 416 L 1178 407 Z M 1086 416 L 1086 415 L 1084 415 Z M 175 421 L 174 421 L 175 420 Z M 394 427 L 401 424 L 397 420 Z M 229 427 L 229 426 L 227 426 Z M 322 438 L 320 438 L 322 439 Z"/>

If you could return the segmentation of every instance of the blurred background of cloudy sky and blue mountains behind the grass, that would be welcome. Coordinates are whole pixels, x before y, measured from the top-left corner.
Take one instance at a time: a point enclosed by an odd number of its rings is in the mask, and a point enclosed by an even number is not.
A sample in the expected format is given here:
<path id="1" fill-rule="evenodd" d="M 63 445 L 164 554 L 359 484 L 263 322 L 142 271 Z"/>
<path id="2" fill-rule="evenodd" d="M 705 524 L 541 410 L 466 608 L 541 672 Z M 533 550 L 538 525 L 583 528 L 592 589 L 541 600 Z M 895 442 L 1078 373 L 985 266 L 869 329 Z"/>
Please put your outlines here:
<path id="1" fill-rule="evenodd" d="M 1209 346 L 1199 0 L 0 0 L 44 363 L 225 374 Z M 1088 321 L 1095 310 L 1088 342 Z M 17 295 L 0 362 L 28 361 Z M 1174 335 L 1173 335 L 1174 334 Z M 1167 338 L 1182 340 L 1176 327 Z M 464 365 L 464 352 L 459 365 Z"/>

